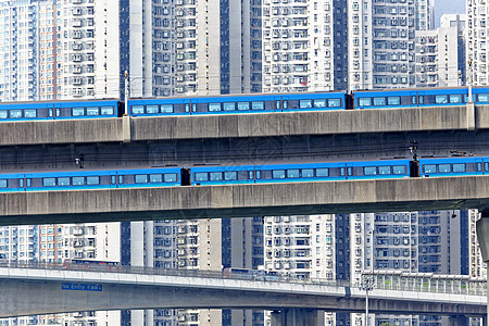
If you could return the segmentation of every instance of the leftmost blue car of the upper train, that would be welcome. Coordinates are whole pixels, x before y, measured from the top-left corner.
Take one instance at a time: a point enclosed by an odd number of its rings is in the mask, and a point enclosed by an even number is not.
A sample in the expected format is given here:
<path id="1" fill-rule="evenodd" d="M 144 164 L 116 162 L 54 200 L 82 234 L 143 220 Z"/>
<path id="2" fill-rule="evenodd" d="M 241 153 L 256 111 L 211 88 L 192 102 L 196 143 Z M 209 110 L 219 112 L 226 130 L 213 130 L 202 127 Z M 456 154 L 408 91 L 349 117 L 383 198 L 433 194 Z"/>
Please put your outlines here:
<path id="1" fill-rule="evenodd" d="M 122 109 L 118 100 L 10 102 L 0 103 L 0 122 L 116 117 Z"/>

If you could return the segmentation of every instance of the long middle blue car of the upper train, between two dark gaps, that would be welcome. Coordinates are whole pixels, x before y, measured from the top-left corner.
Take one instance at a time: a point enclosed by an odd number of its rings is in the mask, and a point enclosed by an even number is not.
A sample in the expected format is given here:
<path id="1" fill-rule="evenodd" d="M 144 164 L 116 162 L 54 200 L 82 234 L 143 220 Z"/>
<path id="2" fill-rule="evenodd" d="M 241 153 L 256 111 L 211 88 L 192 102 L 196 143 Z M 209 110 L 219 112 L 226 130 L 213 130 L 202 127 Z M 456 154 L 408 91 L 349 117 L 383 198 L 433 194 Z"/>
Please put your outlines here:
<path id="1" fill-rule="evenodd" d="M 344 110 L 344 91 L 129 99 L 131 116 Z"/>

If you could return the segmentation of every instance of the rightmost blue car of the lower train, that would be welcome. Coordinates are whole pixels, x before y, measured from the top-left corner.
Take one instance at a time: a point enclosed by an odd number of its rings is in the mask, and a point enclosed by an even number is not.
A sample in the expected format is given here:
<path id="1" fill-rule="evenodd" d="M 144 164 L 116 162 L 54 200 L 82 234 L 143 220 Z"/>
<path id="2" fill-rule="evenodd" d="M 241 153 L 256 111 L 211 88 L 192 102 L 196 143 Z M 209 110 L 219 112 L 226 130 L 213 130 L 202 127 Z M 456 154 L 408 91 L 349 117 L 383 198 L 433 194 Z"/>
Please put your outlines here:
<path id="1" fill-rule="evenodd" d="M 489 158 L 419 159 L 421 176 L 456 176 L 489 174 Z"/>

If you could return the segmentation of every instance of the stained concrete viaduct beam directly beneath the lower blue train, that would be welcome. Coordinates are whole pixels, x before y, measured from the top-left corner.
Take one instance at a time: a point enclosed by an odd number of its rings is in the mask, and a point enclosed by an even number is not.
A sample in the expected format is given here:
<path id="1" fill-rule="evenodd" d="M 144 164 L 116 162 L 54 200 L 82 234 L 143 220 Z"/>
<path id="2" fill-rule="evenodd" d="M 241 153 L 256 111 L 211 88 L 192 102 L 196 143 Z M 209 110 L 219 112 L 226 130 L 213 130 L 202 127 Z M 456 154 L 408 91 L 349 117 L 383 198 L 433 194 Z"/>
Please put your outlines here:
<path id="1" fill-rule="evenodd" d="M 489 177 L 1 192 L 0 225 L 489 210 Z"/>

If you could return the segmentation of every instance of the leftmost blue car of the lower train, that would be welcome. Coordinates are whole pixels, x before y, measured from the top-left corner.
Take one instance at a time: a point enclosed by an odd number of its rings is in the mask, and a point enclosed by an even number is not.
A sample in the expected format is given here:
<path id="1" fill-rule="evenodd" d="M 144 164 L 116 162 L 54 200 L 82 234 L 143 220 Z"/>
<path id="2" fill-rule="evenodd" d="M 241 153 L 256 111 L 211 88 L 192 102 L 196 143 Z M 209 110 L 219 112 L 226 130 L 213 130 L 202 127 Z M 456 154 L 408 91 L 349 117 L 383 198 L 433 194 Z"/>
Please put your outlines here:
<path id="1" fill-rule="evenodd" d="M 0 174 L 0 191 L 46 191 L 180 185 L 180 167 Z"/>

